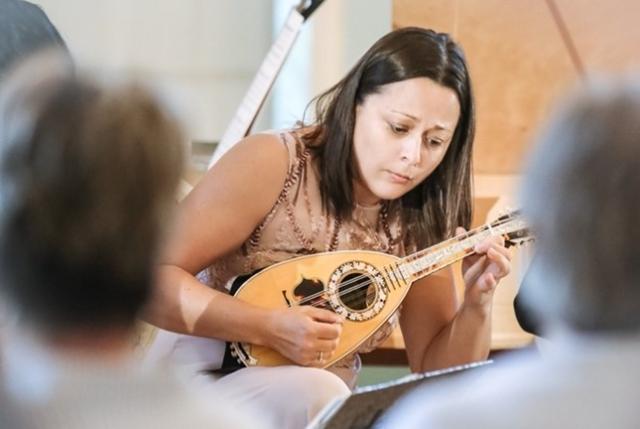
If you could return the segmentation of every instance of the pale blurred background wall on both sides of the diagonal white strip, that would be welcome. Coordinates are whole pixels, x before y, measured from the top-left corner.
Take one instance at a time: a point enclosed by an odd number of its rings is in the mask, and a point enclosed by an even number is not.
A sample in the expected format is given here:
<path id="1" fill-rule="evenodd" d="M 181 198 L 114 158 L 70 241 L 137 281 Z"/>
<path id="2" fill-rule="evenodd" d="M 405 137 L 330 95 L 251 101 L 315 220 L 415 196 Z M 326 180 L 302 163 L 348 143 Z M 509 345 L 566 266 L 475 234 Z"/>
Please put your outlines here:
<path id="1" fill-rule="evenodd" d="M 220 139 L 298 3 L 33 1 L 49 15 L 81 64 L 134 74 L 171 93 L 197 142 Z M 304 24 L 254 129 L 292 125 L 314 95 L 335 83 L 390 28 L 391 0 L 325 0 Z M 210 151 L 200 147 L 198 155 L 206 158 Z"/>

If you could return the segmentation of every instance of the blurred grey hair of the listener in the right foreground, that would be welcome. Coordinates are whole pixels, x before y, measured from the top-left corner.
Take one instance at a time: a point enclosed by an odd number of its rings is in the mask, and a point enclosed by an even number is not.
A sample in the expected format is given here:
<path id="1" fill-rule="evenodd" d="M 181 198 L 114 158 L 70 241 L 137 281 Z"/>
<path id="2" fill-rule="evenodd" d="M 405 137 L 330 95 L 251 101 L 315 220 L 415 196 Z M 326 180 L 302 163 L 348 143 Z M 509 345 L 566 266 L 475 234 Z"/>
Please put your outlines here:
<path id="1" fill-rule="evenodd" d="M 537 257 L 525 302 L 547 324 L 640 329 L 640 81 L 590 82 L 552 115 L 523 181 Z"/>

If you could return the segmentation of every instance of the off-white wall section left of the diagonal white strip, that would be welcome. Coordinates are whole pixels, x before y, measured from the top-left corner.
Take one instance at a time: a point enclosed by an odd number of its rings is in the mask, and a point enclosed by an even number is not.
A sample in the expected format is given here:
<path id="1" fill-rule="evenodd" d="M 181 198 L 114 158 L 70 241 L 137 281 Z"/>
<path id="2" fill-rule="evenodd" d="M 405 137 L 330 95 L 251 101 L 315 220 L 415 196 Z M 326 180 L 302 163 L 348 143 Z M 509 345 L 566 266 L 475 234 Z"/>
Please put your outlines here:
<path id="1" fill-rule="evenodd" d="M 36 3 L 84 66 L 134 74 L 173 94 L 194 140 L 220 138 L 271 45 L 270 0 Z"/>

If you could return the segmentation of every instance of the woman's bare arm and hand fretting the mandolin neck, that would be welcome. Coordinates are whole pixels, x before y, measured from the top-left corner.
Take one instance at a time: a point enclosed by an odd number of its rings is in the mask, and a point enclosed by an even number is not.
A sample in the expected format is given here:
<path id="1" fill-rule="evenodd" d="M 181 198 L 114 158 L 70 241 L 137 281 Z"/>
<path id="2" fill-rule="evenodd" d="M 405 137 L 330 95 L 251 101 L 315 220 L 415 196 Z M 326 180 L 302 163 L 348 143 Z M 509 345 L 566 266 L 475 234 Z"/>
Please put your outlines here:
<path id="1" fill-rule="evenodd" d="M 414 372 L 486 359 L 491 343 L 493 293 L 509 273 L 508 250 L 499 237 L 478 246 L 463 263 L 465 299 L 457 302 L 450 268 L 409 290 L 400 323 Z"/>

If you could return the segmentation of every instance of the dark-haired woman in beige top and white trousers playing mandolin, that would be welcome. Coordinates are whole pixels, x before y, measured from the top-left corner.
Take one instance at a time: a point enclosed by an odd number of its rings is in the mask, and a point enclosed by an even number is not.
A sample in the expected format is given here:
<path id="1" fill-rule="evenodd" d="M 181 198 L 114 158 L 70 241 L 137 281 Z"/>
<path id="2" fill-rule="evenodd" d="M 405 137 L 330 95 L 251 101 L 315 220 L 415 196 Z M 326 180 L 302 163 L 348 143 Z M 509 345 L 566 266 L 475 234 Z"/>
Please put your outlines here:
<path id="1" fill-rule="evenodd" d="M 471 218 L 473 100 L 463 54 L 449 36 L 419 28 L 386 35 L 316 100 L 316 110 L 311 124 L 244 139 L 185 199 L 150 315 L 163 328 L 206 338 L 178 344 L 182 365 L 218 368 L 223 342 L 211 339 L 266 345 L 298 363 L 241 369 L 216 382 L 268 408 L 279 427 L 303 426 L 348 394 L 359 358 L 312 368 L 335 350 L 335 313 L 266 310 L 230 296 L 225 284 L 321 251 L 403 256 L 451 237 Z M 413 371 L 486 358 L 493 291 L 510 264 L 499 238 L 476 251 L 464 263 L 462 305 L 450 270 L 409 291 L 399 320 Z M 360 351 L 375 348 L 397 319 Z"/>

